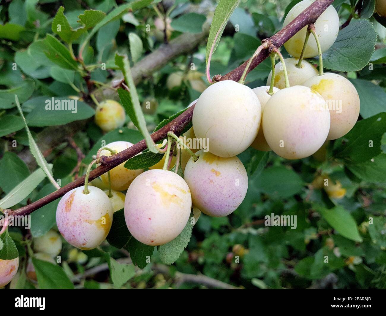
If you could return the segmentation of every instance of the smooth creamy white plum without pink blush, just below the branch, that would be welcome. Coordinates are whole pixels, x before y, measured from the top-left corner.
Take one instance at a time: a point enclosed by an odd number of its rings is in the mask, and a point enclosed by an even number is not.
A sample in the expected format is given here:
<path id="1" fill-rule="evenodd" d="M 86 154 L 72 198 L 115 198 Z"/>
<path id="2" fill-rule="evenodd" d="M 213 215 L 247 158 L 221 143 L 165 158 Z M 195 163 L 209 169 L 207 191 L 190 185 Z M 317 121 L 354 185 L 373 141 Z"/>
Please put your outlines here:
<path id="1" fill-rule="evenodd" d="M 209 151 L 233 157 L 247 149 L 257 136 L 261 105 L 251 88 L 232 80 L 209 86 L 196 102 L 193 128 L 196 136 L 208 139 Z"/>

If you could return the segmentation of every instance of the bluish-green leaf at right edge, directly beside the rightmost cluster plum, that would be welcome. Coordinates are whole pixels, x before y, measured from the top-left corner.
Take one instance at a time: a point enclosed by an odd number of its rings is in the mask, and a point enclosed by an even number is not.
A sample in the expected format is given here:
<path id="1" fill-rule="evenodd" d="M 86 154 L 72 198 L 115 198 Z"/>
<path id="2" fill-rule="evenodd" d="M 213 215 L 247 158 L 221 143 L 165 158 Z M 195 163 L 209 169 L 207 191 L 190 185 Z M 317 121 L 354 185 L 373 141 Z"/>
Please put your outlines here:
<path id="1" fill-rule="evenodd" d="M 358 91 L 363 118 L 386 112 L 386 93 L 380 86 L 362 79 L 350 79 L 350 81 Z"/>

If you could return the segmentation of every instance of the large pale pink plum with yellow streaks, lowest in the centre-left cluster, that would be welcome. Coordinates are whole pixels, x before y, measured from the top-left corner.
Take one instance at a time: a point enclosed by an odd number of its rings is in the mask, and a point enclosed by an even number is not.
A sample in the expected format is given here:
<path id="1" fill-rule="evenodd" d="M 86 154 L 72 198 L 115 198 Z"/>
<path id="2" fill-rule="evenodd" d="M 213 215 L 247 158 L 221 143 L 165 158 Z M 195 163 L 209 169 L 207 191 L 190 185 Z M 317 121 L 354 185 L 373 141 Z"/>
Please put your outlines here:
<path id="1" fill-rule="evenodd" d="M 190 189 L 183 178 L 168 170 L 148 170 L 130 185 L 125 220 L 133 237 L 151 245 L 176 238 L 189 220 Z"/>

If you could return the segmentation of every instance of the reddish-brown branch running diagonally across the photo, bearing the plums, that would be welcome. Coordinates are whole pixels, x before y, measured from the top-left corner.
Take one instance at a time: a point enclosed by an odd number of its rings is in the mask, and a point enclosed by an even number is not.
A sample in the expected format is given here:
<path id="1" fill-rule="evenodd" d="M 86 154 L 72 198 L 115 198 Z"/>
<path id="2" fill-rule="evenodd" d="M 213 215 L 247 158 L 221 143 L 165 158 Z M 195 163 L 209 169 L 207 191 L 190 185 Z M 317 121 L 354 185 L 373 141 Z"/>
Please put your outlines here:
<path id="1" fill-rule="evenodd" d="M 289 23 L 286 27 L 284 27 L 284 29 L 280 30 L 271 38 L 267 39 L 267 41 L 272 42 L 276 47 L 283 45 L 284 42 L 288 41 L 289 38 L 295 35 L 303 27 L 307 26 L 310 23 L 315 22 L 315 20 L 320 16 L 320 14 L 322 14 L 322 12 L 333 1 L 334 0 L 317 0 L 313 2 L 312 5 L 310 5 L 310 7 L 306 8 L 300 15 L 298 15 L 298 17 L 296 17 L 291 23 Z M 253 57 L 252 63 L 248 69 L 248 72 L 251 71 L 253 68 L 255 68 L 265 58 L 267 58 L 268 54 L 269 54 L 268 49 L 262 49 L 261 52 L 257 54 L 257 56 Z M 222 76 L 221 80 L 238 81 L 242 76 L 242 73 L 244 72 L 244 69 L 247 66 L 247 64 L 248 64 L 248 61 L 246 61 L 244 64 L 237 67 L 230 73 L 226 74 L 225 76 Z M 181 115 L 176 117 L 173 121 L 169 122 L 161 129 L 152 133 L 151 137 L 154 140 L 154 142 L 158 142 L 166 138 L 167 133 L 169 131 L 172 131 L 175 134 L 179 135 L 182 132 L 185 125 L 188 122 L 190 122 L 193 116 L 193 110 L 194 110 L 194 105 L 188 108 Z M 128 149 L 123 150 L 122 152 L 119 152 L 118 154 L 112 155 L 110 157 L 103 156 L 102 164 L 90 172 L 89 180 L 91 181 L 97 178 L 98 176 L 106 173 L 107 171 L 111 170 L 115 166 L 118 166 L 122 162 L 127 161 L 131 157 L 134 157 L 136 154 L 139 154 L 145 149 L 146 149 L 146 142 L 145 140 L 141 140 L 141 142 L 131 146 Z M 27 206 L 24 206 L 14 211 L 8 211 L 8 215 L 28 215 L 33 211 L 41 208 L 42 206 L 54 201 L 55 199 L 60 198 L 68 191 L 84 185 L 84 182 L 85 182 L 85 176 L 80 177 L 75 181 L 73 181 L 72 183 L 69 183 L 63 188 L 59 189 L 58 191 L 55 191 L 34 203 L 31 203 Z"/>

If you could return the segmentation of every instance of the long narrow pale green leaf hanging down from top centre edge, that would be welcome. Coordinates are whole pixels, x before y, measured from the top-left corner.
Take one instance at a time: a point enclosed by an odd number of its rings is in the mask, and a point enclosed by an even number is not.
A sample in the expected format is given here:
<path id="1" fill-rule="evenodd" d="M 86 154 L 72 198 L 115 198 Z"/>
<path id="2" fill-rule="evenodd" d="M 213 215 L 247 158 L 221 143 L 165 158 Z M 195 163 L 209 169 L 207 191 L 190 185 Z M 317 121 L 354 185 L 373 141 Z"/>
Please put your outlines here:
<path id="1" fill-rule="evenodd" d="M 209 30 L 207 52 L 205 57 L 207 64 L 209 56 L 212 56 L 217 48 L 218 43 L 220 42 L 225 25 L 227 25 L 230 16 L 232 15 L 235 8 L 239 5 L 239 3 L 240 0 L 220 0 L 218 2 Z"/>

